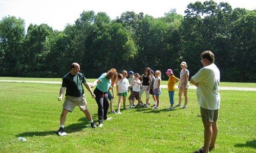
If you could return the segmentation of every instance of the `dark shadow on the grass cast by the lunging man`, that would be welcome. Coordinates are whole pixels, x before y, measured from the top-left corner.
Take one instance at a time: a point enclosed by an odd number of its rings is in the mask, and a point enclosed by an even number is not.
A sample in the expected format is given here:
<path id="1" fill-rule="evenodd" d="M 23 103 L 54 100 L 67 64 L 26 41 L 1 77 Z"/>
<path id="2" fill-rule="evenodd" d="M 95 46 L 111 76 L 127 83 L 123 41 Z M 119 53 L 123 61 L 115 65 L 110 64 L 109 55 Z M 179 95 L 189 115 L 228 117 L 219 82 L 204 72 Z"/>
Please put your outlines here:
<path id="1" fill-rule="evenodd" d="M 81 131 L 84 128 L 90 127 L 86 117 L 79 119 L 79 123 L 74 123 L 65 127 L 65 132 L 73 133 Z M 37 132 L 24 132 L 16 135 L 17 137 L 33 137 L 33 136 L 47 136 L 47 135 L 56 135 L 56 132 L 59 127 L 56 127 L 56 131 L 37 131 Z"/>

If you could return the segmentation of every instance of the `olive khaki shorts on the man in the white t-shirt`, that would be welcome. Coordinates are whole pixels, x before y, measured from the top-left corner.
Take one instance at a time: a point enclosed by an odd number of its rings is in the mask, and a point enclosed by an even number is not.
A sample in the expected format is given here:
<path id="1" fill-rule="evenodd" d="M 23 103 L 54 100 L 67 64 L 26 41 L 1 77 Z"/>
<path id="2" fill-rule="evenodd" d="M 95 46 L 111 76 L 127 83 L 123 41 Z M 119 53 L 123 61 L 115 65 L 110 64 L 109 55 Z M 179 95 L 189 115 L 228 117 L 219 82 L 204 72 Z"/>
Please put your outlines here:
<path id="1" fill-rule="evenodd" d="M 200 107 L 201 117 L 203 122 L 216 122 L 219 117 L 219 109 L 207 110 Z"/>

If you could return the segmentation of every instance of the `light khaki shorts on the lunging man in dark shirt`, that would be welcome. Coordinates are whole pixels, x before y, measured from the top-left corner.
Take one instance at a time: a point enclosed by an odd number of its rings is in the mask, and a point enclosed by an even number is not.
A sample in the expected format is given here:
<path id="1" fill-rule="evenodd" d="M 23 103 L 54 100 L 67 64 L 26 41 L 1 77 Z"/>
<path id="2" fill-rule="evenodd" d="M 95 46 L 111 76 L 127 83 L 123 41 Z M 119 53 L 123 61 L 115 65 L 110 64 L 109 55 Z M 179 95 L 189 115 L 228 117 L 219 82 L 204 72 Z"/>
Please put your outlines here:
<path id="1" fill-rule="evenodd" d="M 85 111 L 88 109 L 85 95 L 81 95 L 80 97 L 73 97 L 73 96 L 67 95 L 65 97 L 65 101 L 63 103 L 63 109 L 72 112 L 76 106 L 78 106 L 81 111 Z"/>

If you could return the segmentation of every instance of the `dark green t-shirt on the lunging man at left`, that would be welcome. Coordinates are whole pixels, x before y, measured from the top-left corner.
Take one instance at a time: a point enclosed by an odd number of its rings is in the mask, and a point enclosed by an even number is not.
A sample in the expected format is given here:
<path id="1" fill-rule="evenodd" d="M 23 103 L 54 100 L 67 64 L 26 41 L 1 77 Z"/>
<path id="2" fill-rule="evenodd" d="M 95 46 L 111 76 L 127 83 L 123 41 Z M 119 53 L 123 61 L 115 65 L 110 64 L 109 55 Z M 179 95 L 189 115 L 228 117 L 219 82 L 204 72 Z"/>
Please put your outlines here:
<path id="1" fill-rule="evenodd" d="M 82 83 L 86 82 L 86 77 L 82 73 L 72 75 L 70 72 L 62 78 L 61 87 L 66 87 L 66 96 L 80 97 L 84 94 Z"/>

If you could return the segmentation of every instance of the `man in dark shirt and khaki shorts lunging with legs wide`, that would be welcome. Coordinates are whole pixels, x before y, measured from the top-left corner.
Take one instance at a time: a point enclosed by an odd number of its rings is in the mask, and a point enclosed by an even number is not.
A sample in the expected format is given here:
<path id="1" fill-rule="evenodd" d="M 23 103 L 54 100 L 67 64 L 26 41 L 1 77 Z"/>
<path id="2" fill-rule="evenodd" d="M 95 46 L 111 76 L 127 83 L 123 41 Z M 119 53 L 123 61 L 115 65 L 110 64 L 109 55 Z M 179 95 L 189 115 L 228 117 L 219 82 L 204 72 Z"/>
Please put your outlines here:
<path id="1" fill-rule="evenodd" d="M 63 133 L 67 114 L 68 112 L 72 112 L 76 106 L 78 106 L 80 110 L 86 115 L 87 119 L 91 122 L 91 127 L 96 127 L 95 123 L 93 122 L 92 116 L 88 110 L 86 96 L 84 95 L 82 84 L 86 86 L 87 90 L 91 93 L 92 98 L 95 98 L 95 95 L 90 85 L 86 82 L 86 77 L 84 77 L 84 75 L 79 71 L 79 64 L 72 63 L 71 71 L 62 78 L 62 85 L 58 97 L 59 101 L 61 101 L 65 89 L 67 90 L 65 94 L 65 101 L 63 103 L 63 110 L 60 115 L 60 128 L 57 131 L 57 134 Z"/>

